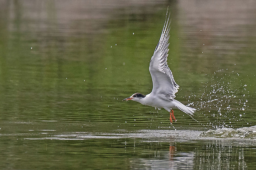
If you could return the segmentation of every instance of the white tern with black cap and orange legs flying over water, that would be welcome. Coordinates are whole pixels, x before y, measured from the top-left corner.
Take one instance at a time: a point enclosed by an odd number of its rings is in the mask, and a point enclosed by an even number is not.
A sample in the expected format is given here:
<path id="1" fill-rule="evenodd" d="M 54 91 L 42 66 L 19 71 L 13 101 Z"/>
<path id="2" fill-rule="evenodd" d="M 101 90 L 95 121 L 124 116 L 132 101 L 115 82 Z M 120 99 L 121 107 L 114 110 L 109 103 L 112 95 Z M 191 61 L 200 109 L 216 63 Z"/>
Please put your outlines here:
<path id="1" fill-rule="evenodd" d="M 176 119 L 174 117 L 172 108 L 178 108 L 188 114 L 190 117 L 194 115 L 196 109 L 185 106 L 178 100 L 174 99 L 176 97 L 175 93 L 178 92 L 180 86 L 175 82 L 173 73 L 167 64 L 169 51 L 168 47 L 170 44 L 168 42 L 170 37 L 169 19 L 170 14 L 168 15 L 167 9 L 164 28 L 149 63 L 149 72 L 153 82 L 152 92 L 147 95 L 143 95 L 142 93 L 134 93 L 130 97 L 123 100 L 133 100 L 140 102 L 142 105 L 164 108 L 170 113 L 170 122 L 173 123 L 173 120 L 176 121 Z M 192 117 L 192 119 L 194 118 Z"/>

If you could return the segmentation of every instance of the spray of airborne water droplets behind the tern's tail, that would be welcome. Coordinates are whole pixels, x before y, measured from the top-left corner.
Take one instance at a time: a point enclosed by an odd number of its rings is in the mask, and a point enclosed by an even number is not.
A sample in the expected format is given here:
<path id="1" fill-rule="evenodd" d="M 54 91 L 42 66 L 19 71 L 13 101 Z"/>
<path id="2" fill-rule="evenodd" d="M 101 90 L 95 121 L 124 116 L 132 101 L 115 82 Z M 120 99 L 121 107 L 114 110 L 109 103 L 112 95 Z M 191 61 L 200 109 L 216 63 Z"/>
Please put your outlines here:
<path id="1" fill-rule="evenodd" d="M 189 102 L 194 101 L 190 105 L 199 108 L 197 113 L 208 118 L 209 122 L 203 126 L 228 128 L 243 120 L 249 109 L 249 91 L 247 84 L 237 79 L 238 76 L 238 73 L 228 69 L 218 70 L 213 75 L 206 75 L 210 81 L 202 82 L 202 88 L 199 89 L 201 95 L 192 93 L 188 96 Z"/>

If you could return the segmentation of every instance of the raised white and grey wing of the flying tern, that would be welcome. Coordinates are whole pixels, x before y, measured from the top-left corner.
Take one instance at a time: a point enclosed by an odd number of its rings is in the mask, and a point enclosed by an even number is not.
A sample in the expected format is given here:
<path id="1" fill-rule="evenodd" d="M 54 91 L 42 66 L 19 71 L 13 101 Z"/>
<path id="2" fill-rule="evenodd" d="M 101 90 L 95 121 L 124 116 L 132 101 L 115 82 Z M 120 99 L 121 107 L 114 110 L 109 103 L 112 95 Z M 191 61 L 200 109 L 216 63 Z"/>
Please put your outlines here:
<path id="1" fill-rule="evenodd" d="M 168 16 L 168 18 L 167 18 Z M 164 28 L 160 37 L 160 40 L 154 51 L 154 55 L 151 58 L 149 64 L 149 72 L 153 81 L 152 92 L 154 95 L 158 95 L 164 100 L 171 100 L 175 98 L 175 93 L 178 92 L 179 85 L 173 78 L 173 73 L 167 65 L 168 46 L 169 46 L 169 31 L 170 31 L 170 14 L 168 15 L 168 9 L 166 12 L 166 20 Z"/>

